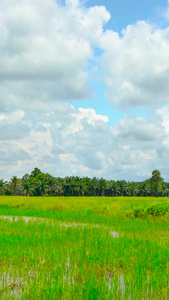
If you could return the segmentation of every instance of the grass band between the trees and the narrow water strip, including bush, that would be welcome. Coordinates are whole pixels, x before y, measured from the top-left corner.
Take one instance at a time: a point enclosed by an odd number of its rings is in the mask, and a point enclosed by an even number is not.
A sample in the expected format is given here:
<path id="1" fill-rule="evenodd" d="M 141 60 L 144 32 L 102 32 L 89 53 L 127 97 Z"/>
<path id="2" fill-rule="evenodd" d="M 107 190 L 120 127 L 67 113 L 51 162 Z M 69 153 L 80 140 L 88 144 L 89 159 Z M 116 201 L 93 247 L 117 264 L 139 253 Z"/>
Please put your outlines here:
<path id="1" fill-rule="evenodd" d="M 0 196 L 0 214 L 106 223 L 119 217 L 168 222 L 169 198 Z"/>

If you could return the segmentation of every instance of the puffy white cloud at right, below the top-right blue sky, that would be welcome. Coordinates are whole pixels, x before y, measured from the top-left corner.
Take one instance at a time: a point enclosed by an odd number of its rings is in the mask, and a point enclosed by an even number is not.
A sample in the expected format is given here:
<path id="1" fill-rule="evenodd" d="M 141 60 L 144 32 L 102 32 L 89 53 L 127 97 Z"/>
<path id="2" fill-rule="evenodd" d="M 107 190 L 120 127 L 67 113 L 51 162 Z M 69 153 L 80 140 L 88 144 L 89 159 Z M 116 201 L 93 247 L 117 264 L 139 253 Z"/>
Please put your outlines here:
<path id="1" fill-rule="evenodd" d="M 168 103 L 169 28 L 157 29 L 139 21 L 123 30 L 121 37 L 107 31 L 101 47 L 111 101 L 121 109 Z"/>

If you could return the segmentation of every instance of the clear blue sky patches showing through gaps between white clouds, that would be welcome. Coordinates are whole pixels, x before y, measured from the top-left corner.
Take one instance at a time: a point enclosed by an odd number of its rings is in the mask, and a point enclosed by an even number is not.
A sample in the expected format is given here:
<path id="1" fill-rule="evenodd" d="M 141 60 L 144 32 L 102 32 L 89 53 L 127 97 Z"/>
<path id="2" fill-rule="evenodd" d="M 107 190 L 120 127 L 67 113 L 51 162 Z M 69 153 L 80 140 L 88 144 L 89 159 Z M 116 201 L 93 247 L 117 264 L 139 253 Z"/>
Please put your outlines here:
<path id="1" fill-rule="evenodd" d="M 113 30 L 118 32 L 120 36 L 123 35 L 123 30 L 128 26 L 137 23 L 138 21 L 145 20 L 148 23 L 154 24 L 158 28 L 166 28 L 168 26 L 168 20 L 164 17 L 164 12 L 167 7 L 166 0 L 89 0 L 84 1 L 85 7 L 92 7 L 95 5 L 105 6 L 111 14 L 110 21 L 105 24 L 104 30 Z M 95 55 L 99 56 L 102 54 L 102 50 L 97 48 Z M 106 114 L 109 117 L 108 125 L 114 125 L 119 118 L 125 116 L 125 111 L 118 110 L 116 106 L 110 105 L 106 99 L 105 91 L 106 87 L 98 78 L 93 78 L 89 82 L 90 86 L 94 87 L 92 97 L 89 99 L 82 99 L 80 101 L 72 101 L 74 107 L 80 106 L 87 108 L 92 107 L 97 113 Z M 134 109 L 131 111 L 137 116 L 149 116 L 151 109 Z"/>

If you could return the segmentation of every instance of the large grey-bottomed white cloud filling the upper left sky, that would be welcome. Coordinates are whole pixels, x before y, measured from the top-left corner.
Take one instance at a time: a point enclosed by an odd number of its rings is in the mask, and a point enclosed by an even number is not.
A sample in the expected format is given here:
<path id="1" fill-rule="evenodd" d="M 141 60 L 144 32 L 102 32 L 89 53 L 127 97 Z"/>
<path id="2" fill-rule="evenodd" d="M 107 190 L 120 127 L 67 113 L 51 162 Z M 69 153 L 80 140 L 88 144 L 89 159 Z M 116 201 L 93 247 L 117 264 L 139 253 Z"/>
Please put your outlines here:
<path id="1" fill-rule="evenodd" d="M 109 17 L 104 7 L 85 9 L 76 0 L 66 6 L 2 0 L 0 110 L 45 110 L 58 100 L 91 95 L 88 59 Z"/>

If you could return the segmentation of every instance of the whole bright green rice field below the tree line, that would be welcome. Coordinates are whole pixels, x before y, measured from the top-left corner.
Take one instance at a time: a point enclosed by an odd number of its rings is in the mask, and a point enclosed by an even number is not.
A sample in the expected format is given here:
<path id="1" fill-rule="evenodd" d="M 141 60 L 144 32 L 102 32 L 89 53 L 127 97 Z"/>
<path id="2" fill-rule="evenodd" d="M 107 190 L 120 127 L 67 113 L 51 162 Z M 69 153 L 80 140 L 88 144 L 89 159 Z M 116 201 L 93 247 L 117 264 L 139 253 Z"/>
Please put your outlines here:
<path id="1" fill-rule="evenodd" d="M 169 299 L 168 205 L 0 197 L 0 299 Z"/>

